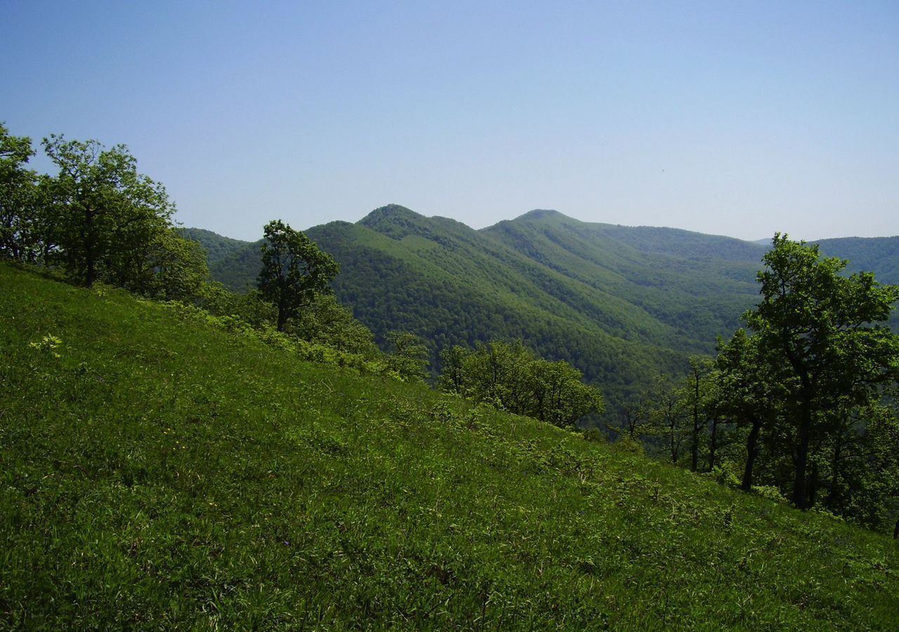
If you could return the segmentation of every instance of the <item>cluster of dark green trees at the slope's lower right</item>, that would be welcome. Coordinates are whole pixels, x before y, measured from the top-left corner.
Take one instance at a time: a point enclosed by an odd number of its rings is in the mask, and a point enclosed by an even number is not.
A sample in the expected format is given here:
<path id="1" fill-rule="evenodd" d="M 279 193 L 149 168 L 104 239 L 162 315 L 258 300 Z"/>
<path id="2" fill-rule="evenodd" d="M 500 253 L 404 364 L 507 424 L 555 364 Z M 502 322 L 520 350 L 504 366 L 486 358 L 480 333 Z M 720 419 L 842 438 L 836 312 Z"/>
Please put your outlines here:
<path id="1" fill-rule="evenodd" d="M 747 329 L 622 406 L 615 432 L 743 490 L 899 535 L 899 286 L 777 235 Z"/>

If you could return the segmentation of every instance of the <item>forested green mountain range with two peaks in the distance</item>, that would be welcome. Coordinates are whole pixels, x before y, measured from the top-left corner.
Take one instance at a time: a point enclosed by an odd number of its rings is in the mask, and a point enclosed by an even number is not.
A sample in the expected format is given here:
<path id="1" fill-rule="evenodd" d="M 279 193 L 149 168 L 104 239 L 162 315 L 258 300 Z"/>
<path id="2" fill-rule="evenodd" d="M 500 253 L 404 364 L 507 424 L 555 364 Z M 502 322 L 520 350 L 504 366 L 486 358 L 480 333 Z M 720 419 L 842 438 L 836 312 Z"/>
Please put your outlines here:
<path id="1" fill-rule="evenodd" d="M 213 279 L 252 287 L 259 242 L 184 233 L 209 250 Z M 766 244 L 676 228 L 578 221 L 555 210 L 475 230 L 389 205 L 307 235 L 341 263 L 334 291 L 383 343 L 419 334 L 434 360 L 451 344 L 521 338 L 602 387 L 614 409 L 654 375 L 714 352 L 758 298 Z M 881 282 L 899 282 L 899 237 L 820 242 Z M 894 319 L 895 320 L 895 319 Z"/>

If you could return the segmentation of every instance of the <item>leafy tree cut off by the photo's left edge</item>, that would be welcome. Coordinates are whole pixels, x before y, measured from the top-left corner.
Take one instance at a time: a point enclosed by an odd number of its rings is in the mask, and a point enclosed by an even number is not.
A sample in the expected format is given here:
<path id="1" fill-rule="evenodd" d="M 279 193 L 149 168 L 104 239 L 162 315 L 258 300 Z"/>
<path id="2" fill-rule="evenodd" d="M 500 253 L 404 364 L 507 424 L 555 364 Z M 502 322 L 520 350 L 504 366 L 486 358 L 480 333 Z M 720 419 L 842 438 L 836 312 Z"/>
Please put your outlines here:
<path id="1" fill-rule="evenodd" d="M 31 138 L 11 136 L 0 123 L 0 257 L 37 254 L 38 176 L 25 168 L 31 156 Z"/>

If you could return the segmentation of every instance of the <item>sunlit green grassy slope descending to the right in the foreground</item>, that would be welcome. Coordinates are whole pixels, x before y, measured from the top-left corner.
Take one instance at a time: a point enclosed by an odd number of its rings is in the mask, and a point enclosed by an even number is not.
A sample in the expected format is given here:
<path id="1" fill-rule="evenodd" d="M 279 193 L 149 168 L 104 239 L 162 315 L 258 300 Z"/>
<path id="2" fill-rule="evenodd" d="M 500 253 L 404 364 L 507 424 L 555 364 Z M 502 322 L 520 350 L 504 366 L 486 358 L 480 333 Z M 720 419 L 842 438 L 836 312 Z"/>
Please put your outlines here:
<path id="1" fill-rule="evenodd" d="M 895 627 L 892 540 L 118 292 L 0 289 L 0 628 Z"/>

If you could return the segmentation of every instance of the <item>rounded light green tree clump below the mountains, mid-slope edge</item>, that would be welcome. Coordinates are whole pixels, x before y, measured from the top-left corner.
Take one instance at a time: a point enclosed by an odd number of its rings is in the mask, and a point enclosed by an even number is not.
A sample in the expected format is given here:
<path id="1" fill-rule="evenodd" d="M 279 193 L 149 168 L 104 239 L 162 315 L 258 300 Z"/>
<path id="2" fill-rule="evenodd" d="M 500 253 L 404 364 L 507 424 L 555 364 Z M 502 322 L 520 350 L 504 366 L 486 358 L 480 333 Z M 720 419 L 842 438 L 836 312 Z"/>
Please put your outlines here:
<path id="1" fill-rule="evenodd" d="M 476 402 L 560 427 L 603 410 L 601 393 L 583 384 L 579 370 L 540 360 L 521 341 L 478 344 L 474 351 L 455 346 L 441 355 L 441 387 Z"/>

